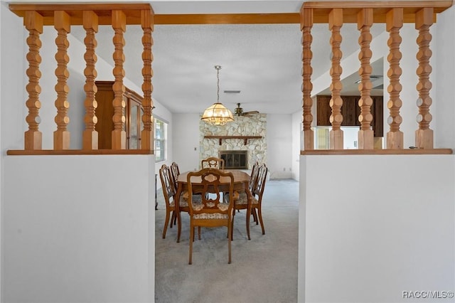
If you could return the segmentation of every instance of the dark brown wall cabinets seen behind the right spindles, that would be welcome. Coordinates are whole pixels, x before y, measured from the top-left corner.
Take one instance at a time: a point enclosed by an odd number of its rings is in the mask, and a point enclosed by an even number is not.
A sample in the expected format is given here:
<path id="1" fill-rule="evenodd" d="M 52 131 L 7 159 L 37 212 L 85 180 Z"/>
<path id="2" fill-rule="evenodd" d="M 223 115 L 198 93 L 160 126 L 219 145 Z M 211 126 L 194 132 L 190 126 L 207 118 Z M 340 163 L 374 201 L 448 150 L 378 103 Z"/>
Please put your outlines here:
<path id="1" fill-rule="evenodd" d="M 360 115 L 360 107 L 358 107 L 358 100 L 360 96 L 341 96 L 343 99 L 343 106 L 341 107 L 341 115 L 343 115 L 343 122 L 341 126 L 360 126 L 358 116 Z M 382 96 L 371 96 L 373 105 L 371 106 L 371 113 L 373 115 L 374 136 L 384 136 L 384 103 Z M 317 126 L 331 126 L 330 107 L 331 96 L 319 95 L 316 97 L 316 124 Z"/>

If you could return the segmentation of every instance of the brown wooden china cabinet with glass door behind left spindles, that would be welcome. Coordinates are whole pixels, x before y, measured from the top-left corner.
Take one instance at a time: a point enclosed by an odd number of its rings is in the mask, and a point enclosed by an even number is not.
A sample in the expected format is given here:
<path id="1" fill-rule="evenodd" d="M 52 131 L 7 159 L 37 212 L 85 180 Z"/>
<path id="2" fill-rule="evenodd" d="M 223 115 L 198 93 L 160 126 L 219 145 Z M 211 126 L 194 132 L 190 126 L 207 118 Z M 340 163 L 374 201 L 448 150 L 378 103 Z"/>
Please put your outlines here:
<path id="1" fill-rule="evenodd" d="M 98 132 L 98 148 L 112 149 L 112 130 L 114 130 L 114 91 L 112 85 L 114 81 L 95 81 L 98 91 L 95 95 L 98 107 L 95 111 L 98 122 L 95 129 Z M 127 133 L 127 149 L 141 148 L 141 129 L 143 128 L 142 115 L 144 109 L 142 107 L 141 95 L 129 88 L 125 87 L 123 100 L 125 102 L 125 128 Z"/>

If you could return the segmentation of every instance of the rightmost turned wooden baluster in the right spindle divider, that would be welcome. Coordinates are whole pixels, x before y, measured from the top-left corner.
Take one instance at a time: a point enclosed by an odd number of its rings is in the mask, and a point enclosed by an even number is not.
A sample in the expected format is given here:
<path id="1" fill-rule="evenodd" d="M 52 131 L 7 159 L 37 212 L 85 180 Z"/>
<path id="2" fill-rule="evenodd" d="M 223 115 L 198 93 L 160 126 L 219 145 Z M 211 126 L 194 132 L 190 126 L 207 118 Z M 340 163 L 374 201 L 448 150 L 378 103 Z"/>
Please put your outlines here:
<path id="1" fill-rule="evenodd" d="M 419 45 L 419 52 L 417 53 L 417 60 L 419 60 L 419 67 L 417 68 L 417 75 L 419 76 L 419 83 L 417 84 L 419 115 L 417 115 L 417 122 L 419 123 L 419 129 L 415 132 L 415 146 L 421 149 L 433 148 L 433 130 L 429 128 L 429 122 L 432 121 L 432 115 L 429 113 L 429 107 L 432 105 L 432 98 L 429 97 L 429 90 L 432 89 L 432 83 L 429 80 L 429 75 L 432 73 L 432 66 L 429 65 L 429 59 L 432 57 L 432 50 L 429 49 L 432 34 L 429 33 L 429 27 L 432 24 L 433 8 L 424 8 L 417 11 L 415 28 L 419 30 L 419 36 L 417 37 L 417 44 Z"/>

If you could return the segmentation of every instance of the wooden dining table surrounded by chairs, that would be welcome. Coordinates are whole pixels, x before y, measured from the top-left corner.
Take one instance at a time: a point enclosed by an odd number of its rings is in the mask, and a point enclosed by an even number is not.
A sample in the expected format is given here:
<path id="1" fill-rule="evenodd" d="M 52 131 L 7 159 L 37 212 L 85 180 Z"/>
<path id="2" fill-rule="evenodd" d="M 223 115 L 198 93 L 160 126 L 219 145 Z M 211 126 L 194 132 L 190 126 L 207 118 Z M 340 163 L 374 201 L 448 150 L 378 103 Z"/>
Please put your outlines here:
<path id="1" fill-rule="evenodd" d="M 251 201 L 252 201 L 252 193 L 250 191 L 250 175 L 247 174 L 245 171 L 241 171 L 239 169 L 220 169 L 220 171 L 230 172 L 232 176 L 234 176 L 234 191 L 240 192 L 245 191 L 248 196 L 248 211 L 247 211 L 247 235 L 248 239 L 250 239 L 250 216 L 251 213 Z M 174 201 L 180 201 L 180 196 L 185 191 L 188 191 L 188 173 L 190 171 L 185 171 L 178 175 L 177 178 L 177 191 Z M 202 179 L 200 176 L 192 176 L 191 177 L 191 184 L 198 185 L 201 184 Z M 223 184 L 226 188 L 229 188 L 230 178 L 229 177 L 221 177 L 220 178 L 220 186 Z M 186 208 L 184 211 L 188 211 Z M 177 213 L 177 223 L 178 223 L 178 231 L 177 231 L 177 242 L 180 242 L 180 234 L 181 234 L 181 206 L 180 203 L 176 203 L 176 213 Z"/>

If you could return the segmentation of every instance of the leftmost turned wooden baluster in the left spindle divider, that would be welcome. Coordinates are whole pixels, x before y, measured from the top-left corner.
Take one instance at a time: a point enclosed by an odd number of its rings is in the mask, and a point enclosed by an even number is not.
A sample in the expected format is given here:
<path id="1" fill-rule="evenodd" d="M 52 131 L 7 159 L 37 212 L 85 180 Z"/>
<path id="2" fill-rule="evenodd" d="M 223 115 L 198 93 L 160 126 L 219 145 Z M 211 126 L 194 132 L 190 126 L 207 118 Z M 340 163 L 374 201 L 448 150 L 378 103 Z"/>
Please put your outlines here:
<path id="1" fill-rule="evenodd" d="M 38 130 L 41 122 L 39 110 L 41 102 L 39 95 L 41 86 L 39 80 L 41 78 L 40 63 L 41 63 L 41 40 L 40 34 L 43 33 L 43 16 L 36 11 L 26 11 L 23 18 L 23 23 L 28 30 L 28 85 L 26 90 L 28 92 L 28 100 L 26 106 L 28 108 L 28 115 L 26 122 L 28 123 L 28 130 L 24 133 L 24 149 L 35 150 L 42 149 L 43 134 Z"/>

